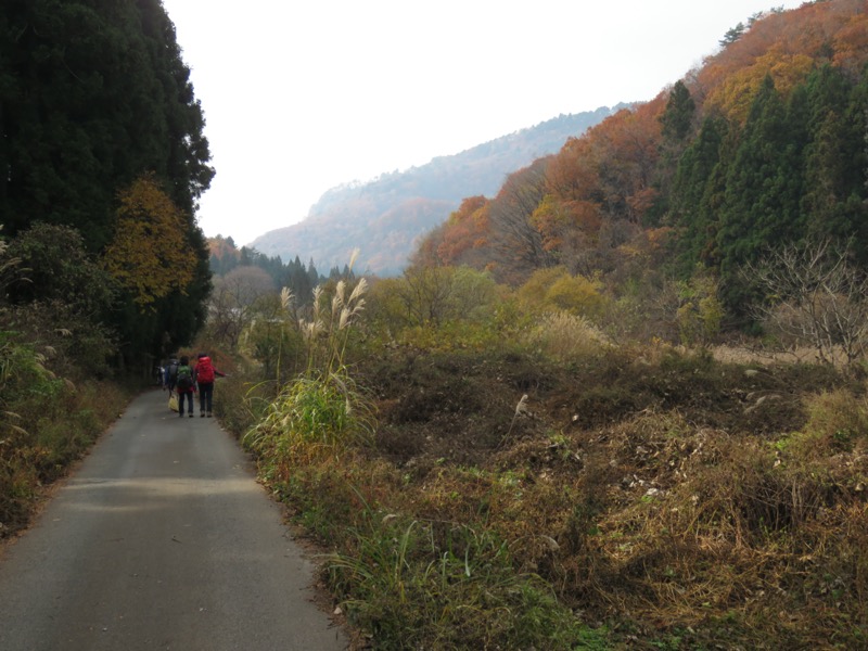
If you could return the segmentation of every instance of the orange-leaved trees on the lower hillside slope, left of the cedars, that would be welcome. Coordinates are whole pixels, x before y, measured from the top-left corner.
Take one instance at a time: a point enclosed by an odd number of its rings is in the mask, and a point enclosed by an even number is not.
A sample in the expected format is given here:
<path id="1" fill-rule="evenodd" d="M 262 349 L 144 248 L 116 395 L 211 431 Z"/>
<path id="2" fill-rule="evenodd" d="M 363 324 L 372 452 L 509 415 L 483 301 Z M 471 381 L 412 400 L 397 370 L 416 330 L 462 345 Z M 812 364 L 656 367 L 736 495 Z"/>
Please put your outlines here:
<path id="1" fill-rule="evenodd" d="M 497 257 L 492 248 L 498 242 L 498 253 L 506 255 L 501 264 L 509 265 L 510 252 L 505 250 L 515 248 L 512 258 L 520 259 L 520 248 L 534 238 L 539 239 L 545 254 L 558 256 L 597 246 L 607 220 L 640 224 L 658 194 L 653 181 L 660 156 L 659 118 L 664 108 L 665 98 L 661 97 L 634 111 L 621 111 L 584 137 L 567 141 L 558 155 L 545 161 L 541 178 L 520 170 L 507 179 L 493 202 L 484 196 L 467 199 L 422 241 L 414 261 L 490 268 L 490 260 Z M 505 207 L 510 196 L 537 194 L 538 200 L 529 204 L 513 201 L 515 209 Z M 494 204 L 500 206 L 495 216 Z M 514 217 L 513 222 L 509 216 Z M 498 237 L 498 231 L 510 228 L 524 230 Z"/>

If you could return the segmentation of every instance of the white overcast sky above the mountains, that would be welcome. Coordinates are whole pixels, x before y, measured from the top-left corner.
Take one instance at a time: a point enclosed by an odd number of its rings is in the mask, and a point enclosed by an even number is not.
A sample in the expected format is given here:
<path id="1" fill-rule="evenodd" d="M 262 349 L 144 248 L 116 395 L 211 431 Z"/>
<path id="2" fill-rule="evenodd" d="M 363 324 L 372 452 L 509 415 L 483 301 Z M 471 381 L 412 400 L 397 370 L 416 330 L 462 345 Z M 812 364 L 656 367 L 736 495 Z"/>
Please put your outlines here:
<path id="1" fill-rule="evenodd" d="M 801 3 L 163 0 L 217 169 L 199 224 L 248 244 L 341 183 L 650 100 L 730 27 Z"/>

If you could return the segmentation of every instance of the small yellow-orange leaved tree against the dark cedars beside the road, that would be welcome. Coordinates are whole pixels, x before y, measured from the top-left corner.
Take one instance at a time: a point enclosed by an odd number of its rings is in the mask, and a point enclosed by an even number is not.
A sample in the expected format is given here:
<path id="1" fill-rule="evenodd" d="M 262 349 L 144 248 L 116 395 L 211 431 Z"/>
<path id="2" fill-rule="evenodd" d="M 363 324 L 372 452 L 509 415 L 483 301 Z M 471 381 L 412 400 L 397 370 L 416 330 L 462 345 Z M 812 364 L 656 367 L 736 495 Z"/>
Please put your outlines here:
<path id="1" fill-rule="evenodd" d="M 152 175 L 137 179 L 118 197 L 115 235 L 103 264 L 143 310 L 174 290 L 183 292 L 196 260 L 184 244 L 186 216 Z"/>

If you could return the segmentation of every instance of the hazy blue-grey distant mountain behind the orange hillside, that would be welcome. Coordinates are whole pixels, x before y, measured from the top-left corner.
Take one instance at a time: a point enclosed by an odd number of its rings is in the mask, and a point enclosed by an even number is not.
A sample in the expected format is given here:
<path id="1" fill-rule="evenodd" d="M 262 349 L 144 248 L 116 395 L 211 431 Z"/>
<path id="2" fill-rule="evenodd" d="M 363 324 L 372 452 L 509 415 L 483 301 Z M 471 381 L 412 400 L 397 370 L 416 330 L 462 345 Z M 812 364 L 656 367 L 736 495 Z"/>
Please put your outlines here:
<path id="1" fill-rule="evenodd" d="M 267 256 L 343 267 L 359 248 L 357 271 L 400 272 L 420 235 L 441 225 L 468 196 L 493 196 L 506 176 L 560 151 L 627 104 L 560 115 L 420 167 L 328 190 L 301 222 L 268 231 L 251 244 Z"/>

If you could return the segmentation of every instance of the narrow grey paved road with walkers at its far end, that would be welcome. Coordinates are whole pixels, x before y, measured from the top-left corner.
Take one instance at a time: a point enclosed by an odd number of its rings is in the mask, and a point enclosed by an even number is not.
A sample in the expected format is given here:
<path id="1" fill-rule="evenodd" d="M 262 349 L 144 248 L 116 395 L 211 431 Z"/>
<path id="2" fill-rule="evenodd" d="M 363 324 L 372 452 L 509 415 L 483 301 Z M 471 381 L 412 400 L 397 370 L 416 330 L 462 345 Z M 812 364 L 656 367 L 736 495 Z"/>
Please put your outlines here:
<path id="1" fill-rule="evenodd" d="M 135 400 L 0 556 L 0 650 L 345 649 L 237 443 L 166 400 Z"/>

